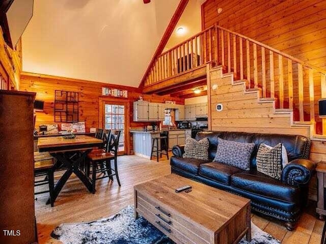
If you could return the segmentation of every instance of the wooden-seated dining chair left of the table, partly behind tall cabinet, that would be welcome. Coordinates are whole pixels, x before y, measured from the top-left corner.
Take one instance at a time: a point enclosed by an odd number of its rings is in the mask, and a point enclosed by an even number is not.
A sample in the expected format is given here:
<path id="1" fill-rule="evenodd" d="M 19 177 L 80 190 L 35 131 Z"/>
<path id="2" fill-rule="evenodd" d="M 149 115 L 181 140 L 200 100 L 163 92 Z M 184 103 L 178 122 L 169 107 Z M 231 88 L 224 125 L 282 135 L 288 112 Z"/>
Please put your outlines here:
<path id="1" fill-rule="evenodd" d="M 54 158 L 48 152 L 34 152 L 34 187 L 48 185 L 48 190 L 36 192 L 35 195 L 49 193 L 50 204 L 53 207 Z M 39 179 L 42 177 L 41 179 Z M 37 179 L 38 178 L 38 179 Z"/>

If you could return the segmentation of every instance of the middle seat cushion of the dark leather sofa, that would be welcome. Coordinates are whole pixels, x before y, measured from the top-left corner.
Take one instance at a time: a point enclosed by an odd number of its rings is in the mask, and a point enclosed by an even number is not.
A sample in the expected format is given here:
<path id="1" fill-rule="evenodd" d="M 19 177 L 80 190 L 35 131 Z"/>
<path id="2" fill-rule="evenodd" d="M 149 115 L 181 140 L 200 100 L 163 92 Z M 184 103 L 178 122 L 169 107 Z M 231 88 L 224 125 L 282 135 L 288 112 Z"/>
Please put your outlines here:
<path id="1" fill-rule="evenodd" d="M 200 176 L 226 185 L 230 185 L 231 175 L 239 172 L 242 172 L 242 170 L 220 162 L 209 162 L 208 164 L 201 164 L 199 167 Z"/>

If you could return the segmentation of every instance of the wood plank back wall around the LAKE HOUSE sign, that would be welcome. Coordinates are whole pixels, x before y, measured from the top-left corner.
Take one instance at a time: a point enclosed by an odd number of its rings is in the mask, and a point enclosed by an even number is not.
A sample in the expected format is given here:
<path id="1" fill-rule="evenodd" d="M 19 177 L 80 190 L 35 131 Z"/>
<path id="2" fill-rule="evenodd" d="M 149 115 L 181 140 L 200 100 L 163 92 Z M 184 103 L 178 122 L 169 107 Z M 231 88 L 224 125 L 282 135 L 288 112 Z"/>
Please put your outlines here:
<path id="1" fill-rule="evenodd" d="M 36 99 L 44 101 L 44 112 L 37 112 L 36 127 L 40 124 L 50 124 L 54 122 L 54 100 L 55 90 L 75 91 L 79 92 L 79 121 L 86 122 L 86 131 L 91 127 L 97 128 L 99 126 L 99 98 L 108 98 L 102 96 L 102 87 L 123 89 L 128 91 L 128 98 L 121 98 L 121 101 L 129 102 L 130 127 L 143 127 L 150 125 L 150 122 L 133 122 L 133 101 L 138 100 L 142 95 L 144 100 L 151 102 L 165 102 L 166 100 L 176 101 L 178 104 L 184 104 L 183 98 L 175 98 L 158 95 L 142 94 L 141 90 L 133 87 L 110 85 L 99 82 L 90 82 L 87 80 L 70 79 L 49 75 L 39 75 L 32 73 L 21 73 L 20 90 L 36 92 Z M 57 122 L 56 122 L 57 123 Z M 59 124 L 59 129 L 61 123 Z M 132 151 L 132 137 L 129 151 Z"/>

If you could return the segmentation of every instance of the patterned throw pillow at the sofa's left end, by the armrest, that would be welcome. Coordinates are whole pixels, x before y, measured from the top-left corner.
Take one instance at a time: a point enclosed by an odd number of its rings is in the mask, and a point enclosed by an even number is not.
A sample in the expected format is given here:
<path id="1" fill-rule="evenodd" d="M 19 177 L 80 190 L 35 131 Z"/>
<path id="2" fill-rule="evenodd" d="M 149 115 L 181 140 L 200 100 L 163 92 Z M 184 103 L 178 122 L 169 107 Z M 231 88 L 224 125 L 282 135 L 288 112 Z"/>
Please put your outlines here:
<path id="1" fill-rule="evenodd" d="M 187 138 L 184 145 L 183 157 L 208 160 L 209 141 L 204 138 L 196 141 L 193 138 Z"/>

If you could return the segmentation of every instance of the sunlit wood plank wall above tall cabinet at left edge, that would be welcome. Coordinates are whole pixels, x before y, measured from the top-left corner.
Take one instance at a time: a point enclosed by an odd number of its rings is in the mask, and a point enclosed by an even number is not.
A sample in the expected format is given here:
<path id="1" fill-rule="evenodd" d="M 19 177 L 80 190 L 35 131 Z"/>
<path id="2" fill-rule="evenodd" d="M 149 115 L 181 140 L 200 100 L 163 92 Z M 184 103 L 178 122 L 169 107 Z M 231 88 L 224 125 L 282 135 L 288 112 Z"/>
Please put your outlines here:
<path id="1" fill-rule="evenodd" d="M 8 53 L 5 49 L 5 40 L 2 30 L 0 29 L 0 62 L 5 68 L 10 79 L 10 90 L 19 90 L 20 72 L 22 71 L 22 52 L 21 39 L 19 40 L 16 50 L 12 50 L 8 46 Z M 15 70 L 13 68 L 15 66 Z"/>

